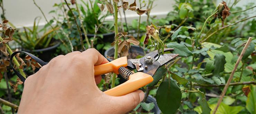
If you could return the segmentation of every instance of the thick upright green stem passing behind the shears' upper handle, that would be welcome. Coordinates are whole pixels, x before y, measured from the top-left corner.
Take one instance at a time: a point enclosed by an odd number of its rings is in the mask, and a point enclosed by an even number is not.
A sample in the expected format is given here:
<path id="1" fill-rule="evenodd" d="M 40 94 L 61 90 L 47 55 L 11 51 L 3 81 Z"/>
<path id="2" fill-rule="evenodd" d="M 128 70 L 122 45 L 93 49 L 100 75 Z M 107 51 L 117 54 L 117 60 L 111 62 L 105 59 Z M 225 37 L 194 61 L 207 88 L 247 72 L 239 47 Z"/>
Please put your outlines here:
<path id="1" fill-rule="evenodd" d="M 118 38 L 116 37 L 117 34 L 118 34 L 118 26 L 117 26 L 117 15 L 118 15 L 118 9 L 117 9 L 117 3 L 116 2 L 113 2 L 114 3 L 114 29 L 115 29 L 115 55 L 114 55 L 114 59 L 117 59 L 118 57 L 118 53 L 117 53 L 117 50 L 118 50 Z M 116 81 L 116 74 L 113 74 L 113 77 L 112 77 L 112 81 L 111 81 L 111 88 L 115 87 L 115 81 Z"/>

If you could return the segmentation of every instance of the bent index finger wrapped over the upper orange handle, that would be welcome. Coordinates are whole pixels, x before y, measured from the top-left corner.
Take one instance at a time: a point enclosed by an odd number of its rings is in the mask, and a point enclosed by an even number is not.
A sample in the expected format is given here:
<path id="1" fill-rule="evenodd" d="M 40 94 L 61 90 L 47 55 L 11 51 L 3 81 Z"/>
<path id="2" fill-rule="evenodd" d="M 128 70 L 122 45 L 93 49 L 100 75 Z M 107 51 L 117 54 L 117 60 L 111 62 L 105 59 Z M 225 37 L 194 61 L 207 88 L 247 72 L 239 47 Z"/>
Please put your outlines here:
<path id="1" fill-rule="evenodd" d="M 108 63 L 109 61 L 94 48 L 87 49 L 81 53 L 82 56 L 90 58 L 94 65 Z"/>

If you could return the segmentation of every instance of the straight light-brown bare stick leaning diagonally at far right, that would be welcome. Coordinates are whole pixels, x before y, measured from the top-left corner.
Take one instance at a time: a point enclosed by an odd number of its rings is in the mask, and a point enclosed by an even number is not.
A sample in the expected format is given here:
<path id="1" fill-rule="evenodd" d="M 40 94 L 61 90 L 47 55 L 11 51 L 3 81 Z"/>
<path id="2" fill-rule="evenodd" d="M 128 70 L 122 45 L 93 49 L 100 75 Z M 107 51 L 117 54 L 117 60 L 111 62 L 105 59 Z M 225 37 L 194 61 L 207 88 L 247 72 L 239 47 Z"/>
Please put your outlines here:
<path id="1" fill-rule="evenodd" d="M 220 105 L 220 103 L 221 103 L 221 101 L 222 101 L 224 95 L 226 94 L 227 89 L 228 89 L 228 86 L 229 86 L 229 84 L 230 84 L 230 82 L 231 82 L 231 80 L 232 80 L 232 78 L 233 78 L 233 76 L 234 76 L 234 74 L 235 74 L 235 72 L 236 72 L 236 69 L 237 69 L 237 67 L 238 67 L 238 64 L 240 63 L 241 59 L 243 58 L 244 53 L 245 53 L 246 49 L 248 48 L 248 46 L 249 46 L 250 42 L 252 41 L 252 39 L 253 39 L 252 37 L 249 37 L 249 39 L 247 40 L 247 42 L 246 42 L 246 44 L 245 44 L 244 49 L 242 50 L 242 52 L 241 52 L 239 58 L 237 59 L 236 64 L 235 64 L 235 67 L 234 67 L 234 69 L 232 70 L 232 73 L 230 74 L 230 77 L 228 78 L 228 82 L 226 83 L 226 85 L 225 85 L 225 87 L 224 87 L 224 89 L 223 89 L 223 91 L 222 91 L 222 93 L 221 93 L 221 96 L 220 96 L 220 98 L 219 98 L 219 100 L 218 100 L 218 103 L 217 103 L 216 107 L 214 108 L 213 114 L 215 114 L 215 113 L 217 112 L 217 109 L 218 109 L 218 107 L 219 107 L 219 105 Z"/>

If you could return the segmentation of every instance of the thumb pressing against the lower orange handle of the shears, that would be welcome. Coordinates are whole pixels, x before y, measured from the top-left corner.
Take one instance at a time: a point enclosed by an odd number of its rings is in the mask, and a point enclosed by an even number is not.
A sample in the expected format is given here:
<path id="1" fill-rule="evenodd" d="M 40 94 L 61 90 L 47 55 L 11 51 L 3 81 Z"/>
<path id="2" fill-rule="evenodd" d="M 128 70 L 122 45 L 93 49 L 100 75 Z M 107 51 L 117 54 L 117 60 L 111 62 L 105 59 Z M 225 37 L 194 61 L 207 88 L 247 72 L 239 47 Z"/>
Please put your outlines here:
<path id="1" fill-rule="evenodd" d="M 112 97 L 113 103 L 115 103 L 115 111 L 119 114 L 127 113 L 133 110 L 144 99 L 144 92 L 136 90 L 129 94 Z"/>

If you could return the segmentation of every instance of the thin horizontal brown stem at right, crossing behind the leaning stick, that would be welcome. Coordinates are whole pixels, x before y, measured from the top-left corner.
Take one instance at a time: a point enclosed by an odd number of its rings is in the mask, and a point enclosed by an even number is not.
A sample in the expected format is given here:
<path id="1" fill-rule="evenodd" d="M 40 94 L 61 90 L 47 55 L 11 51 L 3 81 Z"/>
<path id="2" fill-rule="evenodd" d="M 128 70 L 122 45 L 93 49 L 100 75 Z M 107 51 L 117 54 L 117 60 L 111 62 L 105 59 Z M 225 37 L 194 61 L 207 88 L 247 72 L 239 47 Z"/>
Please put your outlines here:
<path id="1" fill-rule="evenodd" d="M 229 86 L 237 86 L 237 85 L 247 85 L 247 84 L 256 84 L 256 81 L 250 81 L 250 82 L 235 82 L 235 83 L 230 83 Z M 225 86 L 225 84 L 220 84 L 220 85 L 207 85 L 207 84 L 194 84 L 195 86 L 202 86 L 202 87 L 221 87 Z"/>

